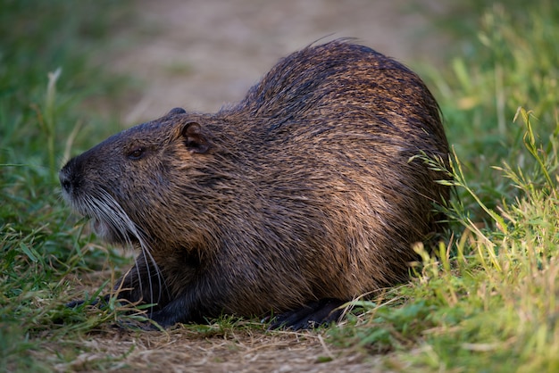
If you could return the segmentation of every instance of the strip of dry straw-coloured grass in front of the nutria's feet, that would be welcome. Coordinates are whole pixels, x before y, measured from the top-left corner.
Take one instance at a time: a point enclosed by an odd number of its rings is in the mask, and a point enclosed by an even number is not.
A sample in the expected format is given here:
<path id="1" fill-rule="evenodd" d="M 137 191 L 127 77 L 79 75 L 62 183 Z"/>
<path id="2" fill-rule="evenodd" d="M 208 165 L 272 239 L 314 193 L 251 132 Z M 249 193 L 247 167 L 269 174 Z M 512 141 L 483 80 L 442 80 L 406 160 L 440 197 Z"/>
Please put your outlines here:
<path id="1" fill-rule="evenodd" d="M 374 371 L 381 357 L 355 349 L 327 345 L 320 331 L 265 331 L 263 326 L 222 330 L 219 325 L 196 330 L 180 326 L 165 332 L 103 327 L 88 339 L 68 341 L 79 346 L 72 361 L 57 363 L 58 371 L 196 371 L 196 372 L 322 372 Z M 249 325 L 250 324 L 250 325 Z M 60 341 L 65 344 L 64 341 Z M 61 343 L 46 344 L 33 357 L 52 359 Z M 54 358 L 54 360 L 57 360 Z"/>

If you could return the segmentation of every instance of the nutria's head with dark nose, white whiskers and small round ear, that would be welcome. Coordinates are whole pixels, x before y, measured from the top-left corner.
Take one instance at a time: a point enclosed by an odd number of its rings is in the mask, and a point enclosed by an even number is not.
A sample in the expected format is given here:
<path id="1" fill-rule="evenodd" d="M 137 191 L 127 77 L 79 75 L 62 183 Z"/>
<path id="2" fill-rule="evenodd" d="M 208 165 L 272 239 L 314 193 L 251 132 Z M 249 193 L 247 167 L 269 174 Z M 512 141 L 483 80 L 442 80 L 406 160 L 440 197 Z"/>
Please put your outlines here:
<path id="1" fill-rule="evenodd" d="M 63 197 L 107 242 L 145 247 L 146 238 L 157 239 L 170 228 L 160 212 L 173 203 L 167 198 L 170 170 L 179 167 L 188 178 L 189 161 L 210 148 L 200 124 L 173 109 L 72 158 L 59 174 Z"/>

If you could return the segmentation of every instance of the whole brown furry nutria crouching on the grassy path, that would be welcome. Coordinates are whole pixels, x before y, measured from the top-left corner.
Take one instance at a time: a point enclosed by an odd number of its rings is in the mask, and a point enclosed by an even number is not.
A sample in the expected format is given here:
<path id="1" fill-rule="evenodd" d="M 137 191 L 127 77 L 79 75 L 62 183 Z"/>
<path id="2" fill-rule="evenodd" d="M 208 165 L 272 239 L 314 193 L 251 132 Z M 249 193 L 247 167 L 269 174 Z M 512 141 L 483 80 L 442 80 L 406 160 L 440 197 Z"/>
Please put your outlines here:
<path id="1" fill-rule="evenodd" d="M 156 303 L 161 326 L 273 312 L 299 328 L 408 277 L 449 193 L 418 154 L 447 162 L 428 88 L 336 40 L 280 60 L 237 105 L 109 137 L 60 181 L 99 236 L 140 248 L 116 289 Z"/>

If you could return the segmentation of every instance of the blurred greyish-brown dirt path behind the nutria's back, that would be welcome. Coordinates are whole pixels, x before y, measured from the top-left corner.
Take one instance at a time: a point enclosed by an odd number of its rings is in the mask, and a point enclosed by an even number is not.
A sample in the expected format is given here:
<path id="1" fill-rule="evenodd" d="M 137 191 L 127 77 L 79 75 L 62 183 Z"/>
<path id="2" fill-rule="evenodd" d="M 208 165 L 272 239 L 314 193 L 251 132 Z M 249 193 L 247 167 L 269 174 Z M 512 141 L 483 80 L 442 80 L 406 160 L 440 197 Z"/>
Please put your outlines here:
<path id="1" fill-rule="evenodd" d="M 356 37 L 402 62 L 441 63 L 448 38 L 433 22 L 437 0 L 137 1 L 121 20 L 111 69 L 145 89 L 122 109 L 126 122 L 174 106 L 211 112 L 236 102 L 282 56 L 317 40 Z"/>

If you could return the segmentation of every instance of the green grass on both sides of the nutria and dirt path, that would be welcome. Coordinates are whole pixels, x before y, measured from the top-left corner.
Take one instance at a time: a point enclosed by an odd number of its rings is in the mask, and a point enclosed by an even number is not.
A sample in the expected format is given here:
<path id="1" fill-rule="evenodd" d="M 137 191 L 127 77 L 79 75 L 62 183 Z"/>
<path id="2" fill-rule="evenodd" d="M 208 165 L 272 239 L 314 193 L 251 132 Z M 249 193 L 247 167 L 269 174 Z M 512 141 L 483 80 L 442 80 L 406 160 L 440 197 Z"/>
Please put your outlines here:
<path id="1" fill-rule="evenodd" d="M 435 253 L 418 246 L 413 281 L 357 303 L 325 339 L 391 352 L 384 364 L 394 370 L 557 371 L 559 8 L 472 4 L 439 26 L 456 40 L 447 68 L 419 69 L 455 151 L 447 239 Z M 56 170 L 69 149 L 118 128 L 85 103 L 110 102 L 127 80 L 88 61 L 127 10 L 109 0 L 2 0 L 0 8 L 0 370 L 51 371 L 88 349 L 84 336 L 123 317 L 114 303 L 63 306 L 77 292 L 106 290 L 87 277 L 127 259 L 69 217 Z M 243 325 L 223 318 L 198 333 Z"/>

